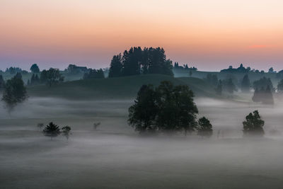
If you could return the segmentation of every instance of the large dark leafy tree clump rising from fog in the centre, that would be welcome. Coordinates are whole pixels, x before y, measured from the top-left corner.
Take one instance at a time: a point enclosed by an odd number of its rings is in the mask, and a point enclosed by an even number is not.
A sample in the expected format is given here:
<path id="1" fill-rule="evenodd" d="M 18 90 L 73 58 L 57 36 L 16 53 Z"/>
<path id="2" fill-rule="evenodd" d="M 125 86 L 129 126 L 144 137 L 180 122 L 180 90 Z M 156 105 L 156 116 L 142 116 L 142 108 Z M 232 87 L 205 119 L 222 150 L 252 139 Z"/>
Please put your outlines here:
<path id="1" fill-rule="evenodd" d="M 162 81 L 157 88 L 141 86 L 134 105 L 129 108 L 129 125 L 140 133 L 179 131 L 186 135 L 195 130 L 204 133 L 210 126 L 202 118 L 202 125 L 198 127 L 193 97 L 188 86 L 173 86 L 169 81 Z"/>

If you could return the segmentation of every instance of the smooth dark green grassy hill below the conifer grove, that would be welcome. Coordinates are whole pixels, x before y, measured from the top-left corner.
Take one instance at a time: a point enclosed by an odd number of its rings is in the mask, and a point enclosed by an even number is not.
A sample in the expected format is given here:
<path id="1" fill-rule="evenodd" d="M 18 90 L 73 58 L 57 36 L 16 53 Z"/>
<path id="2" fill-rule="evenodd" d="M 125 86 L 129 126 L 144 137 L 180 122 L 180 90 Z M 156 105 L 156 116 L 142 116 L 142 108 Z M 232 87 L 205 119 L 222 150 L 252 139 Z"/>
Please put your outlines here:
<path id="1" fill-rule="evenodd" d="M 32 86 L 29 96 L 58 97 L 70 99 L 125 99 L 134 98 L 143 84 L 158 86 L 161 81 L 190 86 L 195 96 L 215 96 L 214 89 L 204 80 L 193 77 L 174 78 L 172 76 L 149 74 L 106 79 L 67 81 L 57 86 Z"/>

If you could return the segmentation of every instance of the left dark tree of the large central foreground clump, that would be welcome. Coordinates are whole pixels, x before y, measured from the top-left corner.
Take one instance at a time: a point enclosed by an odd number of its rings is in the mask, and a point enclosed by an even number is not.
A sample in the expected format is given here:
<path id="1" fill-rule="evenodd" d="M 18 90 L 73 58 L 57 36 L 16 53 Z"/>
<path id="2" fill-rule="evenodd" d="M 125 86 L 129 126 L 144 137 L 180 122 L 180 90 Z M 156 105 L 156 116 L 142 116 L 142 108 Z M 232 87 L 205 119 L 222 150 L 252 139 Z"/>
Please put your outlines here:
<path id="1" fill-rule="evenodd" d="M 134 105 L 129 107 L 129 125 L 139 133 L 155 132 L 157 108 L 156 92 L 153 86 L 141 86 Z"/>

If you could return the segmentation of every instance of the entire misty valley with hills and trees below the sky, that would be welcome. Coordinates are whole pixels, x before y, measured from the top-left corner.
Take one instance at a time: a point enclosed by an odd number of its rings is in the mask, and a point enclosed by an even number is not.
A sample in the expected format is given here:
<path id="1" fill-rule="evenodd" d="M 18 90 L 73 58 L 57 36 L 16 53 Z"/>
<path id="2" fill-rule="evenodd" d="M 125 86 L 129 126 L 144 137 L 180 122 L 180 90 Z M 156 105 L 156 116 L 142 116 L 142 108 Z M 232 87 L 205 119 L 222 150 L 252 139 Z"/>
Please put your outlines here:
<path id="1" fill-rule="evenodd" d="M 0 188 L 282 188 L 283 71 L 132 47 L 0 75 Z"/>

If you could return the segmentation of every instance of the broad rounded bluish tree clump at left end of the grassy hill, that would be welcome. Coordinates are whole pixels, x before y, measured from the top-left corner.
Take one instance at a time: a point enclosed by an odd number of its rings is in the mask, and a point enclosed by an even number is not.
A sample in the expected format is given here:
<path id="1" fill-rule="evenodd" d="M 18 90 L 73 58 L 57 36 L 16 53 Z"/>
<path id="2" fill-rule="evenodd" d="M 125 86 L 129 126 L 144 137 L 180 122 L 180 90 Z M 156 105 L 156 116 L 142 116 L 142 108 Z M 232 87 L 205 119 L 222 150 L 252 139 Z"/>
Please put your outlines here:
<path id="1" fill-rule="evenodd" d="M 40 83 L 52 86 L 64 81 L 64 76 L 60 74 L 59 69 L 50 68 L 48 70 L 42 70 L 40 73 Z"/>

